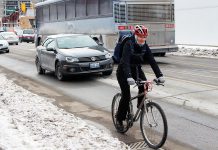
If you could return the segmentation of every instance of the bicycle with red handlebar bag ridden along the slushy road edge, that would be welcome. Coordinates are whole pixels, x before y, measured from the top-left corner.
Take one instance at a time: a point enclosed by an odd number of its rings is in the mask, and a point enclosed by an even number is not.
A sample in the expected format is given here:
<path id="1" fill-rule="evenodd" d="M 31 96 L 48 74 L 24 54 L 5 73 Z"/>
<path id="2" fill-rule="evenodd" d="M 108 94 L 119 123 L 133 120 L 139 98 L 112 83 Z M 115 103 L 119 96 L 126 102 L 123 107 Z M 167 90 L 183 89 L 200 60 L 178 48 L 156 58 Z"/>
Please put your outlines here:
<path id="1" fill-rule="evenodd" d="M 154 79 L 154 82 L 156 83 L 156 85 L 163 85 L 161 83 L 158 83 L 157 79 Z M 140 129 L 145 142 L 150 148 L 158 149 L 164 145 L 167 139 L 168 126 L 163 109 L 160 107 L 160 105 L 152 102 L 147 97 L 147 93 L 152 90 L 152 84 L 152 81 L 136 81 L 135 87 L 144 85 L 145 90 L 143 93 L 131 97 L 129 102 L 129 110 L 126 115 L 126 120 L 124 121 L 124 129 L 120 130 L 120 128 L 117 127 L 116 119 L 116 113 L 118 110 L 121 93 L 117 93 L 113 97 L 111 109 L 113 123 L 118 132 L 127 132 L 128 129 L 133 126 L 133 123 L 138 121 L 140 118 Z M 132 101 L 140 96 L 143 96 L 143 100 L 141 101 L 136 113 L 134 114 Z M 159 118 L 157 115 L 160 115 Z M 156 129 L 158 127 L 160 127 L 161 130 Z"/>

